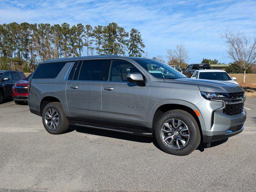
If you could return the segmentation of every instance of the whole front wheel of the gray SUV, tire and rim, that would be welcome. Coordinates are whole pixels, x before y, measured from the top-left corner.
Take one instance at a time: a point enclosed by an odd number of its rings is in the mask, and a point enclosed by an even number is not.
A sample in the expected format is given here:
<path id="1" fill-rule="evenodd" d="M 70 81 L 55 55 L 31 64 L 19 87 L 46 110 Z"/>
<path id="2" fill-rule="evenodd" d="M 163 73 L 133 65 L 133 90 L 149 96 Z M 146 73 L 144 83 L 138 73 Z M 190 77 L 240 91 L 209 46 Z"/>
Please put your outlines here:
<path id="1" fill-rule="evenodd" d="M 165 152 L 179 156 L 193 152 L 201 140 L 195 118 L 183 110 L 165 112 L 156 123 L 155 137 Z"/>

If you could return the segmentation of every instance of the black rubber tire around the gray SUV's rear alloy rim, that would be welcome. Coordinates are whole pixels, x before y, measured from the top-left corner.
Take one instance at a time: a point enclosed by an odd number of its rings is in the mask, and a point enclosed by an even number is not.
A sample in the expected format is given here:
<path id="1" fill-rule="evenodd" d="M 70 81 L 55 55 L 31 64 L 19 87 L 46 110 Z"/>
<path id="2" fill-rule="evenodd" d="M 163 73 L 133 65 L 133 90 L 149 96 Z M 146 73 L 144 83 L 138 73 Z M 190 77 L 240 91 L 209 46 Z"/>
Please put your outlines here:
<path id="1" fill-rule="evenodd" d="M 50 108 L 54 109 L 58 113 L 58 118 L 59 118 L 58 126 L 56 126 L 54 130 L 50 129 L 45 122 L 46 111 Z M 46 131 L 50 134 L 62 134 L 62 133 L 65 133 L 69 128 L 69 120 L 64 114 L 64 111 L 60 102 L 51 102 L 44 107 L 42 111 L 42 122 L 44 124 L 44 128 L 46 129 Z"/>

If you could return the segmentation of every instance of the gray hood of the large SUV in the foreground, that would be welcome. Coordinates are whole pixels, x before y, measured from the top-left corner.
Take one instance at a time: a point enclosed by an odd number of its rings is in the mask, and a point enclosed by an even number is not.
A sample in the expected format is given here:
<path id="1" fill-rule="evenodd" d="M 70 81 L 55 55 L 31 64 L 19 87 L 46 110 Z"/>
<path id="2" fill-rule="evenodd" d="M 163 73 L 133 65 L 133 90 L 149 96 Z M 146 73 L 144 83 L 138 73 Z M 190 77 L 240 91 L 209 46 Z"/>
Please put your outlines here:
<path id="1" fill-rule="evenodd" d="M 244 92 L 244 89 L 237 84 L 223 81 L 212 81 L 206 79 L 192 79 L 192 78 L 182 78 L 182 79 L 164 79 L 165 82 L 179 83 L 198 86 L 200 91 L 205 92 L 218 92 L 218 93 L 234 93 L 234 92 Z"/>

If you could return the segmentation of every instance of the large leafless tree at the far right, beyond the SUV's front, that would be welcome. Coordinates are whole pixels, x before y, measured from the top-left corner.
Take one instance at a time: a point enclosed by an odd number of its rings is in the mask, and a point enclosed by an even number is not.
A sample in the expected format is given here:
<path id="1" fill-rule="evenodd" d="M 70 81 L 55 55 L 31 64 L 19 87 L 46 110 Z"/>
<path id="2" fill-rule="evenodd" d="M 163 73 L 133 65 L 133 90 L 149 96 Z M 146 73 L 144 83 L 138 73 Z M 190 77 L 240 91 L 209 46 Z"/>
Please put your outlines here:
<path id="1" fill-rule="evenodd" d="M 228 29 L 222 38 L 225 40 L 229 58 L 244 71 L 245 82 L 246 69 L 256 64 L 256 32 L 252 38 L 243 32 Z"/>

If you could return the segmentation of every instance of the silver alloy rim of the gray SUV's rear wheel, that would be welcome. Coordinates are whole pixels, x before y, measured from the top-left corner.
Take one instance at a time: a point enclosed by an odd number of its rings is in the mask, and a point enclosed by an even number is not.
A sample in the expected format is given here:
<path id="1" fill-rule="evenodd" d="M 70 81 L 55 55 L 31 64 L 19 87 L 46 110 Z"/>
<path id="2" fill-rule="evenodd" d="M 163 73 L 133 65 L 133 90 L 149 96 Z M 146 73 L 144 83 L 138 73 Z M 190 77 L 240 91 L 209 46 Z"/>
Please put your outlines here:
<path id="1" fill-rule="evenodd" d="M 44 116 L 45 124 L 50 130 L 55 130 L 59 124 L 59 116 L 55 109 L 48 108 Z"/>

